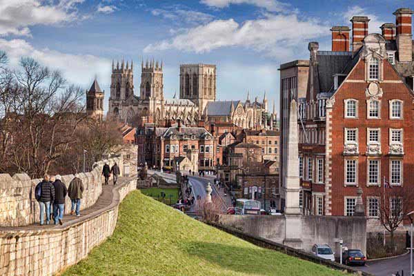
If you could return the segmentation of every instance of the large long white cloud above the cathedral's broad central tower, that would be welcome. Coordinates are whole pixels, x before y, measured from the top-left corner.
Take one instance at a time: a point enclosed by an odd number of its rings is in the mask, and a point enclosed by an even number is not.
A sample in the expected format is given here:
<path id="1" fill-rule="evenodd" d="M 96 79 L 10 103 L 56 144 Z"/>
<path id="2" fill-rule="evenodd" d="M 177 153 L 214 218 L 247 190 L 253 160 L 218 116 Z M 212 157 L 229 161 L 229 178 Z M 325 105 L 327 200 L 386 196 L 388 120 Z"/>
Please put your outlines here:
<path id="1" fill-rule="evenodd" d="M 303 48 L 309 39 L 329 34 L 329 28 L 315 19 L 301 21 L 297 14 L 265 16 L 242 24 L 234 19 L 215 20 L 190 28 L 172 39 L 150 44 L 144 52 L 177 49 L 202 53 L 224 47 L 244 47 L 272 57 L 286 57 L 295 48 Z"/>

